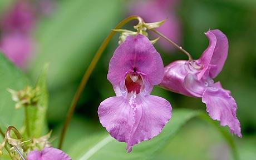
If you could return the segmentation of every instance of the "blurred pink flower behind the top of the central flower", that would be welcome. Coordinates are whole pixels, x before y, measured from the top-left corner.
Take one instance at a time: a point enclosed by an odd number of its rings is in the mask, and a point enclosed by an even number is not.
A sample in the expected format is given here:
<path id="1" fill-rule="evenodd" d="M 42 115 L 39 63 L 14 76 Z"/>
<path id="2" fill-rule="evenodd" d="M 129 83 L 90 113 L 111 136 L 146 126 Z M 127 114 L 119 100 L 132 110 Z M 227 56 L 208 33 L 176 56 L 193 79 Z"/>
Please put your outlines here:
<path id="1" fill-rule="evenodd" d="M 139 15 L 146 22 L 157 22 L 168 18 L 161 27 L 157 28 L 157 31 L 160 31 L 175 43 L 179 43 L 181 38 L 181 26 L 175 14 L 175 8 L 178 6 L 178 3 L 178 0 L 133 1 L 130 14 Z M 160 39 L 159 44 L 165 50 L 174 49 L 174 47 L 164 39 Z"/>

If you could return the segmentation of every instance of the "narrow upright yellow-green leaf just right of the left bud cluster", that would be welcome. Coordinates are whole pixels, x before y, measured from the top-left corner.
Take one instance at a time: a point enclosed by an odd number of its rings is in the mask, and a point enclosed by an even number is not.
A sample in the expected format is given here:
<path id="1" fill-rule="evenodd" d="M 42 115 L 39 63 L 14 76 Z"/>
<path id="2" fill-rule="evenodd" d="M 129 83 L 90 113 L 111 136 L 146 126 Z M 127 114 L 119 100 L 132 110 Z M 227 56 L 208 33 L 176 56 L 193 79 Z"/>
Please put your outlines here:
<path id="1" fill-rule="evenodd" d="M 31 137 L 41 137 L 43 129 L 46 128 L 46 112 L 48 108 L 48 91 L 47 91 L 47 72 L 48 64 L 46 64 L 38 81 L 36 87 L 39 88 L 39 100 L 36 106 L 29 106 L 28 109 L 28 119 L 29 119 L 29 130 Z"/>

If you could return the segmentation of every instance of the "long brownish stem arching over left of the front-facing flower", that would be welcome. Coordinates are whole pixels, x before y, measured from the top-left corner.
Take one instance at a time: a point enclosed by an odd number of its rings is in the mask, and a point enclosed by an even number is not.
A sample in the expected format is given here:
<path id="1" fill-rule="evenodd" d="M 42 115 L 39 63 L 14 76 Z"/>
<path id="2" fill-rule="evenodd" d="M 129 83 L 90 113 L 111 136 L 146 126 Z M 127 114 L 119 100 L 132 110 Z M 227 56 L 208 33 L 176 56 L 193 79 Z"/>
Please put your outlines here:
<path id="1" fill-rule="evenodd" d="M 126 23 L 134 20 L 134 19 L 137 19 L 139 21 L 139 23 L 142 23 L 143 20 L 141 17 L 139 16 L 130 16 L 130 17 L 127 17 L 125 19 L 123 19 L 119 24 L 117 24 L 117 26 L 114 28 L 114 29 L 120 29 L 122 26 L 124 26 Z M 109 35 L 106 37 L 106 39 L 104 40 L 104 42 L 101 44 L 100 48 L 98 49 L 98 51 L 95 53 L 95 56 L 93 57 L 89 67 L 87 68 L 85 74 L 83 74 L 83 78 L 77 88 L 77 91 L 75 93 L 75 96 L 73 97 L 73 100 L 72 100 L 72 103 L 71 103 L 71 106 L 70 106 L 70 109 L 68 110 L 68 113 L 67 113 L 67 117 L 66 117 L 66 121 L 64 123 L 64 126 L 62 128 L 62 131 L 61 131 L 61 137 L 60 137 L 60 142 L 58 144 L 58 148 L 61 149 L 62 147 L 62 143 L 63 143 L 63 139 L 65 137 L 65 134 L 66 134 L 66 131 L 67 131 L 67 128 L 68 128 L 68 124 L 70 123 L 71 121 L 71 118 L 72 118 L 72 115 L 73 115 L 73 112 L 75 111 L 75 108 L 76 108 L 76 105 L 77 105 L 77 102 L 78 102 L 78 99 L 80 98 L 81 96 L 81 93 L 83 92 L 83 89 L 85 88 L 86 86 L 86 83 L 88 81 L 88 78 L 90 77 L 93 69 L 95 68 L 97 62 L 99 61 L 100 57 L 101 57 L 101 54 L 102 52 L 105 50 L 107 44 L 109 44 L 111 38 L 115 35 L 115 31 L 111 31 L 109 33 Z"/>

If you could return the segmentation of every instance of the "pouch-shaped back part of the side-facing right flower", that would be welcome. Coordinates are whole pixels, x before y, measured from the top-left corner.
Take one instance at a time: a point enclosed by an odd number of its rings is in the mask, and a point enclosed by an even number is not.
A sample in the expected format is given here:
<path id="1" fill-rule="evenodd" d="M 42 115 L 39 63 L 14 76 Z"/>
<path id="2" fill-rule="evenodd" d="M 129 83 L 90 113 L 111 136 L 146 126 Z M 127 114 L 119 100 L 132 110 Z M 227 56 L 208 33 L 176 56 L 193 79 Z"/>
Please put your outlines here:
<path id="1" fill-rule="evenodd" d="M 170 91 L 194 97 L 184 88 L 184 78 L 189 73 L 187 61 L 175 61 L 164 67 L 164 79 L 159 84 Z"/>

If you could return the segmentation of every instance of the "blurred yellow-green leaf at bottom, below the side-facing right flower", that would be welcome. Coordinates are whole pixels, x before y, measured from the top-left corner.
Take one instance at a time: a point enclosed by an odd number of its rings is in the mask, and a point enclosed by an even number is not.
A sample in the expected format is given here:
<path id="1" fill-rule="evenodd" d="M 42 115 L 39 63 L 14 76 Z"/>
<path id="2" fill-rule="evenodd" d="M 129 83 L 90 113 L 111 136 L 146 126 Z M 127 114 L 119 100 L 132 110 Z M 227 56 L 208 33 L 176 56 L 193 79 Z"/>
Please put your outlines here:
<path id="1" fill-rule="evenodd" d="M 155 159 L 232 159 L 230 148 L 223 140 L 219 131 L 209 123 L 198 118 L 192 119 Z"/>

